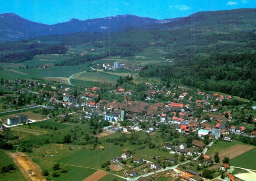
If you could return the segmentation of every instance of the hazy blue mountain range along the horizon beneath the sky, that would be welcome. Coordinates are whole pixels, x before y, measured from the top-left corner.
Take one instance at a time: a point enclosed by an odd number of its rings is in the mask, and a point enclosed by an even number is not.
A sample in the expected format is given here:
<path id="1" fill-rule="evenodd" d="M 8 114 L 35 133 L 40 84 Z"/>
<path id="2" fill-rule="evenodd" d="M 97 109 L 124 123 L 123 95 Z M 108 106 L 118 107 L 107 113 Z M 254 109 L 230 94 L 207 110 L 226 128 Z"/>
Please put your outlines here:
<path id="1" fill-rule="evenodd" d="M 71 19 L 68 22 L 46 25 L 26 20 L 14 13 L 0 14 L 0 42 L 24 40 L 52 34 L 76 32 L 116 32 L 124 29 L 169 29 L 184 27 L 221 28 L 247 24 L 256 27 L 256 9 L 206 11 L 188 17 L 157 20 L 134 15 L 118 15 L 88 20 Z"/>

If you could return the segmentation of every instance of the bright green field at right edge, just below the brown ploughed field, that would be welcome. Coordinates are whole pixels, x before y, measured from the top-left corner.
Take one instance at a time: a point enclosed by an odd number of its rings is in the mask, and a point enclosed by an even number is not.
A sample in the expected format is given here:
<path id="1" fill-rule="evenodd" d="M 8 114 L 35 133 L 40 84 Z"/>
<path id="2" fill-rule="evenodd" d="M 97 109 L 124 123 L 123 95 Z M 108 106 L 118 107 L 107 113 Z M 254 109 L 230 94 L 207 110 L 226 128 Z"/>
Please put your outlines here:
<path id="1" fill-rule="evenodd" d="M 256 148 L 230 160 L 230 165 L 256 170 Z"/>

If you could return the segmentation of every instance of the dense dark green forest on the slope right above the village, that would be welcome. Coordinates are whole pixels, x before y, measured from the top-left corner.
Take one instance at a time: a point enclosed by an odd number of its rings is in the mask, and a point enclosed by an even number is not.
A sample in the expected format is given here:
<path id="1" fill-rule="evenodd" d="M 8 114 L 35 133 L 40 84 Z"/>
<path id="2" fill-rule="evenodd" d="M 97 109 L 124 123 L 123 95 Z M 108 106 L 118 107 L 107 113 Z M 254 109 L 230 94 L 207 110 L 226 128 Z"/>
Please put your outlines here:
<path id="1" fill-rule="evenodd" d="M 256 100 L 256 54 L 225 54 L 210 57 L 184 55 L 174 65 L 145 66 L 141 77 L 158 77 L 180 85 L 212 90 Z"/>

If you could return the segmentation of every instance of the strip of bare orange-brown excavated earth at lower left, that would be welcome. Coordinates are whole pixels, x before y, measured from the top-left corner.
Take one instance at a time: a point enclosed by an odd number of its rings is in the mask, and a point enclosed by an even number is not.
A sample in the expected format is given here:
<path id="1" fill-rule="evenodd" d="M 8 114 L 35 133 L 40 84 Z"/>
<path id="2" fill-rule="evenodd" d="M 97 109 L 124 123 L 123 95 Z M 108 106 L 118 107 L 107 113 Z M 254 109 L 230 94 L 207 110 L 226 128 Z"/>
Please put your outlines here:
<path id="1" fill-rule="evenodd" d="M 40 167 L 23 153 L 8 153 L 27 180 L 46 181 Z"/>

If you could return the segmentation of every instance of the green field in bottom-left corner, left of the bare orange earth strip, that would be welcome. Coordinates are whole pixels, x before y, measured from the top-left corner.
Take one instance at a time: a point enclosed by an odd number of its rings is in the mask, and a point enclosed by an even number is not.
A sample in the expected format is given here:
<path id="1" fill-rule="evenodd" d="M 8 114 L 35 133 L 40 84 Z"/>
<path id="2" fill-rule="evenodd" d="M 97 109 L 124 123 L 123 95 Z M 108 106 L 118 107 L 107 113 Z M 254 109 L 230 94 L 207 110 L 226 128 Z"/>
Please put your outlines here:
<path id="1" fill-rule="evenodd" d="M 0 168 L 3 166 L 7 166 L 9 164 L 13 164 L 16 170 L 2 174 L 0 173 L 0 181 L 26 181 L 23 177 L 22 173 L 18 170 L 18 167 L 13 162 L 12 158 L 10 158 L 4 151 L 0 150 Z"/>

